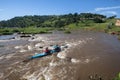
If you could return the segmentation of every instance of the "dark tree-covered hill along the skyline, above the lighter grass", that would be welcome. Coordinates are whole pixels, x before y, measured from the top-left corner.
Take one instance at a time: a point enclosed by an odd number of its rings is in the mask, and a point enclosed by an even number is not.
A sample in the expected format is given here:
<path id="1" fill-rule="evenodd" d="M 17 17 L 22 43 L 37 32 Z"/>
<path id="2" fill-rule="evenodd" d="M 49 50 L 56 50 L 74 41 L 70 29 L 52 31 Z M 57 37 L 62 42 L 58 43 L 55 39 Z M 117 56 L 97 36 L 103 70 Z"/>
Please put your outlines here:
<path id="1" fill-rule="evenodd" d="M 63 27 L 72 23 L 84 22 L 84 20 L 92 20 L 95 23 L 102 23 L 106 16 L 92 13 L 69 13 L 65 15 L 46 15 L 46 16 L 23 16 L 14 17 L 7 21 L 0 21 L 0 28 L 4 27 Z"/>

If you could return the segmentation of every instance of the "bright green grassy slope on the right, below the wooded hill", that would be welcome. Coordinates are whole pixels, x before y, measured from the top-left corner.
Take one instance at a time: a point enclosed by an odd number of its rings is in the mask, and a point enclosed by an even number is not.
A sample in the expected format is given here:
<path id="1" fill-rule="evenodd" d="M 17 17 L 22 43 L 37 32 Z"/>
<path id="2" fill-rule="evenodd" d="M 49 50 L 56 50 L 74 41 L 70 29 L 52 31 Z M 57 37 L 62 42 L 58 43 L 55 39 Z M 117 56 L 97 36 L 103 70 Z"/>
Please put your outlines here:
<path id="1" fill-rule="evenodd" d="M 84 22 L 69 24 L 65 26 L 65 28 L 69 30 L 82 29 L 82 30 L 90 30 L 90 31 L 101 31 L 101 32 L 106 32 L 106 33 L 110 33 L 113 31 L 120 32 L 120 27 L 116 27 L 114 25 L 115 21 L 116 19 L 108 19 L 106 20 L 105 23 L 94 23 L 93 21 L 86 20 Z M 111 26 L 111 29 L 108 29 L 108 25 L 110 23 L 113 23 L 113 25 Z"/>

